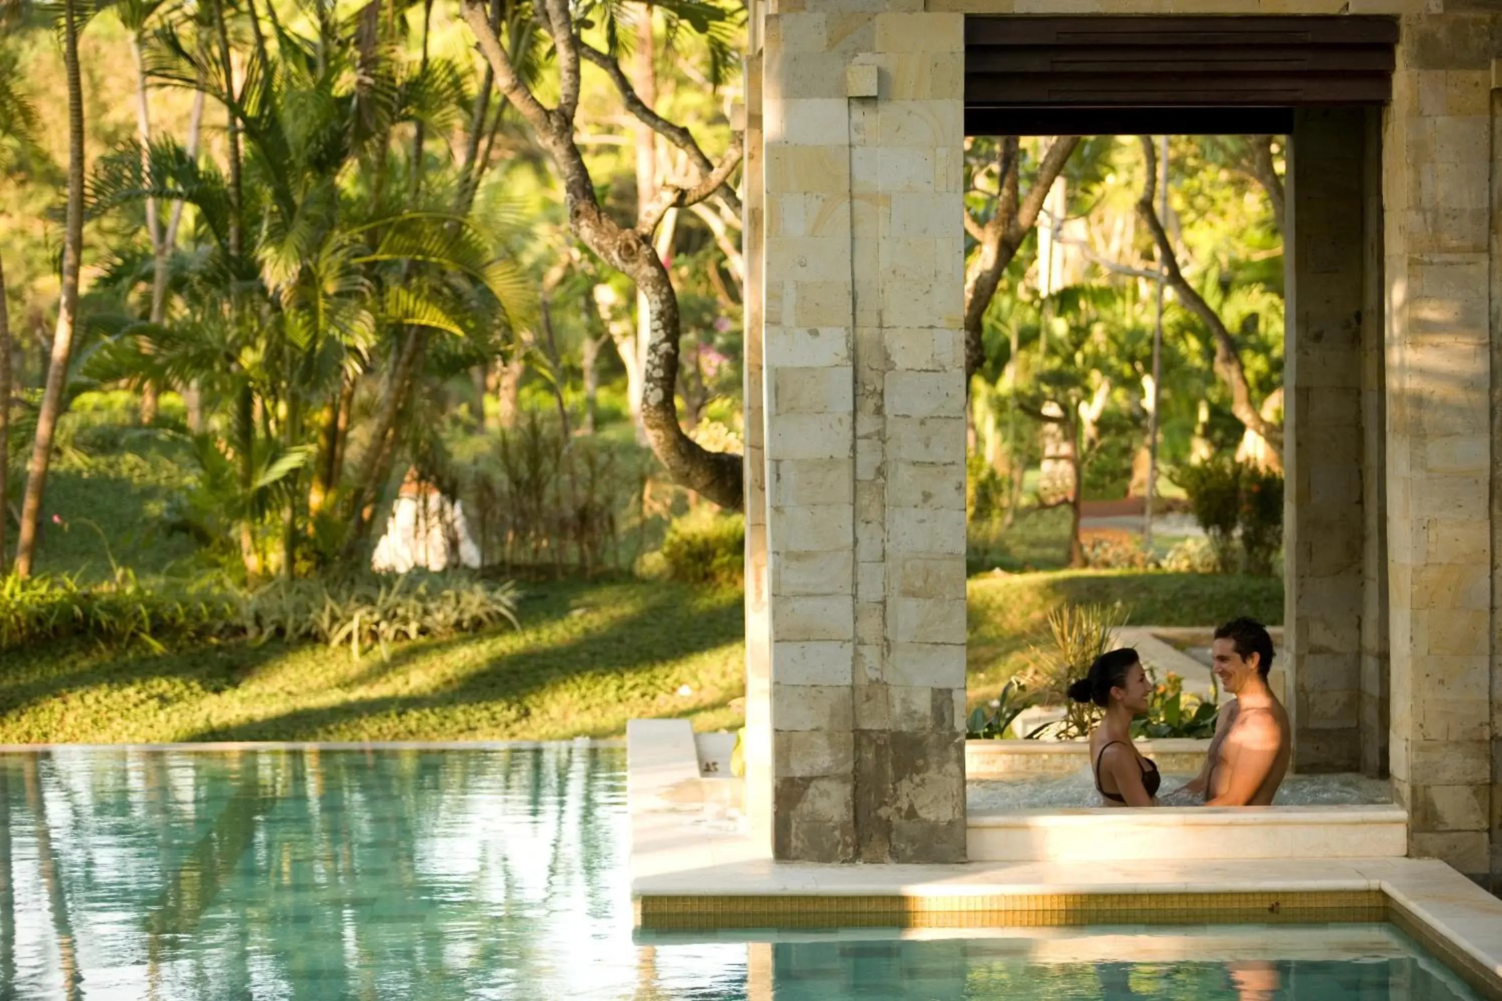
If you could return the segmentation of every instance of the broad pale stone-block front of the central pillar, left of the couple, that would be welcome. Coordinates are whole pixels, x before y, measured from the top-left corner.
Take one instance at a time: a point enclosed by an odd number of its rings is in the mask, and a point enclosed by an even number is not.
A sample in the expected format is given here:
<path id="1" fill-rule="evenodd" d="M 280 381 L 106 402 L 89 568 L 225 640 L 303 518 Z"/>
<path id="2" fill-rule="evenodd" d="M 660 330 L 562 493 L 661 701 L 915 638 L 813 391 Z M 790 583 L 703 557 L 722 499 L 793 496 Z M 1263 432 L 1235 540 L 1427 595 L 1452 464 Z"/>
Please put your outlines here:
<path id="1" fill-rule="evenodd" d="M 964 857 L 964 41 L 921 8 L 765 26 L 778 858 Z"/>

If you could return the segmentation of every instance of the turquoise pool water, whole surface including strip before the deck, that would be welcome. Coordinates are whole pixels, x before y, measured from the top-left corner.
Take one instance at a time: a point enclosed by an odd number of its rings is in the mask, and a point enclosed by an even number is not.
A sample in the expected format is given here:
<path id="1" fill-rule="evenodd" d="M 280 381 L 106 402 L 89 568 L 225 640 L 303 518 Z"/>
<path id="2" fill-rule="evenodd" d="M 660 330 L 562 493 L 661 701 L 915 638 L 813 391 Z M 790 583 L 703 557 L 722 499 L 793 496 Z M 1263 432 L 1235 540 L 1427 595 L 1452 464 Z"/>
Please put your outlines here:
<path id="1" fill-rule="evenodd" d="M 1473 996 L 1386 926 L 638 944 L 623 765 L 583 746 L 0 755 L 0 998 Z"/>

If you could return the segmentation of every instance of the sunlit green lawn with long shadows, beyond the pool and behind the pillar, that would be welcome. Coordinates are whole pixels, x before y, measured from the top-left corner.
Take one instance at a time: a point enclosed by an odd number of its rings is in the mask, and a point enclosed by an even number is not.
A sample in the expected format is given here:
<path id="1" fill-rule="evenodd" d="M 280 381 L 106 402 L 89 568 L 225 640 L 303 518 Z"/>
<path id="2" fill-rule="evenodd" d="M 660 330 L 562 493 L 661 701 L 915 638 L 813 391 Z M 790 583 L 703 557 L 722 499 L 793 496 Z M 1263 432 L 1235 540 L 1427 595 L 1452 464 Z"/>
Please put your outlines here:
<path id="1" fill-rule="evenodd" d="M 1060 572 L 970 581 L 970 695 L 1023 663 L 1048 609 L 1126 600 L 1133 621 L 1200 626 L 1281 612 L 1277 581 Z M 679 584 L 529 585 L 523 630 L 395 647 L 224 644 L 153 656 L 84 644 L 5 653 L 0 743 L 182 740 L 557 740 L 628 719 L 740 722 L 740 594 Z M 688 686 L 688 695 L 679 695 Z"/>

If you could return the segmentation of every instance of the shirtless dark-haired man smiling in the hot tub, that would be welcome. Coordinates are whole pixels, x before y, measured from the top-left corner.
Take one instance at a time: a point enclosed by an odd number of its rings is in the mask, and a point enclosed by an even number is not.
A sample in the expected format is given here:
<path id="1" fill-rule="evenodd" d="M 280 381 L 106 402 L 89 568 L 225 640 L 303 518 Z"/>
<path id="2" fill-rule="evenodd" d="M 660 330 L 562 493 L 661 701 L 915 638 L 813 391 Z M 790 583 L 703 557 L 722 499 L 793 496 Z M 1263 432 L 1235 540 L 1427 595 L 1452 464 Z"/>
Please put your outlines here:
<path id="1" fill-rule="evenodd" d="M 1272 636 L 1250 618 L 1215 630 L 1211 647 L 1221 690 L 1215 737 L 1205 767 L 1185 789 L 1202 792 L 1205 806 L 1268 806 L 1289 770 L 1289 714 L 1268 687 Z"/>

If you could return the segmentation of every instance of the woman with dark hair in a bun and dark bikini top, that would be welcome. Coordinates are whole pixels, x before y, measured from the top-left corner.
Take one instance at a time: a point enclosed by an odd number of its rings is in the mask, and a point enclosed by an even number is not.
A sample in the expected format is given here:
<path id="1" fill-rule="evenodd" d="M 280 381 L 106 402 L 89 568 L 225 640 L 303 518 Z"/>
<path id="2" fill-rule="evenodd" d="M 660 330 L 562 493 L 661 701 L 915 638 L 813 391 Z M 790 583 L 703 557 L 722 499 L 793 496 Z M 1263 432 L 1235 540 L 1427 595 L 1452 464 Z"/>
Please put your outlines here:
<path id="1" fill-rule="evenodd" d="M 1158 795 L 1163 780 L 1158 765 L 1131 743 L 1131 720 L 1148 711 L 1151 695 L 1152 683 L 1131 648 L 1102 653 L 1090 672 L 1069 686 L 1075 702 L 1095 702 L 1105 710 L 1090 732 L 1090 770 L 1107 806 L 1154 806 Z"/>

